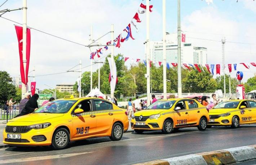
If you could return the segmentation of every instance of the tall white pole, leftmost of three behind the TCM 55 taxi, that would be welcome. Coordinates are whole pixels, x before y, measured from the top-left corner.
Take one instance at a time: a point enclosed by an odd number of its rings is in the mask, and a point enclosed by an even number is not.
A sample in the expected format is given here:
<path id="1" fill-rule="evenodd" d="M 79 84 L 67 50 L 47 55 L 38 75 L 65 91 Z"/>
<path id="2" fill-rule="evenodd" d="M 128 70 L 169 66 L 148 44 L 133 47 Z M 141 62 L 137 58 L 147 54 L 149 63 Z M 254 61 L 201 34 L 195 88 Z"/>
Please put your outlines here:
<path id="1" fill-rule="evenodd" d="M 147 43 L 147 106 L 150 105 L 150 43 L 149 43 L 149 0 L 146 2 L 146 43 Z"/>

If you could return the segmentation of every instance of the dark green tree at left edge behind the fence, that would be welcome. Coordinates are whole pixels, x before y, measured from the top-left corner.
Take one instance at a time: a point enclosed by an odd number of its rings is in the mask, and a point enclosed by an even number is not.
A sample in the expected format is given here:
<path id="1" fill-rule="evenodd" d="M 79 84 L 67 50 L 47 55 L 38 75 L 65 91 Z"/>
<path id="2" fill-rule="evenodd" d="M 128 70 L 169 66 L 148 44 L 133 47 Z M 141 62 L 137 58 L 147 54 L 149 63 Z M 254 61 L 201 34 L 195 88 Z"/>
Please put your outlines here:
<path id="1" fill-rule="evenodd" d="M 0 105 L 14 96 L 16 96 L 16 88 L 12 84 L 12 78 L 6 71 L 0 71 Z"/>

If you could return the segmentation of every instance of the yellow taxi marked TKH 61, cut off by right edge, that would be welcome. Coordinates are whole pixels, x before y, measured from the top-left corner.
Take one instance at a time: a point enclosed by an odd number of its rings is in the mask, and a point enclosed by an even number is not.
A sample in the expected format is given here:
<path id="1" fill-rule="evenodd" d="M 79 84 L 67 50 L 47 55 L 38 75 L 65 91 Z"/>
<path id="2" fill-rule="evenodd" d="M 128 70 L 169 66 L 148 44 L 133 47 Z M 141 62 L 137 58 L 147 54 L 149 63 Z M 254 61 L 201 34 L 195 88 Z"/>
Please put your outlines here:
<path id="1" fill-rule="evenodd" d="M 256 102 L 252 100 L 230 100 L 217 104 L 209 110 L 211 126 L 231 126 L 256 123 Z"/>

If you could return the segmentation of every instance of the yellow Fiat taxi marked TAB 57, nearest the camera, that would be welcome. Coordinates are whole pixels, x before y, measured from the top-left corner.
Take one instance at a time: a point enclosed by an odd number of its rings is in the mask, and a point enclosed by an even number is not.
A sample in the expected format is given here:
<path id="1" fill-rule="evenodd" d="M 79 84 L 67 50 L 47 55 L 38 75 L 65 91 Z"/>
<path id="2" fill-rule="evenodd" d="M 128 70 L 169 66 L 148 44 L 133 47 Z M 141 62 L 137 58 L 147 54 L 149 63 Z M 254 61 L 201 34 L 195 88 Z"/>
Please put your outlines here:
<path id="1" fill-rule="evenodd" d="M 34 113 L 10 120 L 3 143 L 10 146 L 49 146 L 56 150 L 70 141 L 109 136 L 122 138 L 128 129 L 126 110 L 101 98 L 65 96 L 41 106 Z"/>

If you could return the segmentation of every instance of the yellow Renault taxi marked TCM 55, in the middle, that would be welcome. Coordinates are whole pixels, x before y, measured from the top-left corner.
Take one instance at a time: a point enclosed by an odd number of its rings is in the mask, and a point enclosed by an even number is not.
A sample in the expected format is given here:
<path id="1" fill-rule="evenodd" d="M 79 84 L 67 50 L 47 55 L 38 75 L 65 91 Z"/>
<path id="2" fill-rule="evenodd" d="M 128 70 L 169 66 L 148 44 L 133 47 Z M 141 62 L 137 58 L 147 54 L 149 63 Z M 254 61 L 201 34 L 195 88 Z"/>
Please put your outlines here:
<path id="1" fill-rule="evenodd" d="M 205 106 L 189 98 L 159 100 L 145 110 L 133 114 L 131 127 L 136 133 L 145 130 L 162 130 L 171 133 L 183 127 L 198 127 L 205 130 L 209 114 Z"/>

